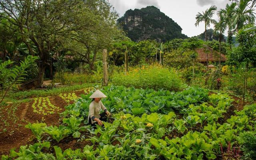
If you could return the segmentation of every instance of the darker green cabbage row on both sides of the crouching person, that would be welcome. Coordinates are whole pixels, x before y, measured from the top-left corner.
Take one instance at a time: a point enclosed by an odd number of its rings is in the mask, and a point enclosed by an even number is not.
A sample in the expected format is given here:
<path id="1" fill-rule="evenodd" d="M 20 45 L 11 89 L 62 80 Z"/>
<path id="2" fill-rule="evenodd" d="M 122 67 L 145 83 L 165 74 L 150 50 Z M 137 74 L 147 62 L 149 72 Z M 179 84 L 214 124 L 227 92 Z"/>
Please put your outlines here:
<path id="1" fill-rule="evenodd" d="M 107 86 L 102 90 L 107 98 L 102 99 L 103 104 L 110 112 L 130 113 L 141 115 L 144 113 L 158 112 L 168 114 L 174 110 L 187 108 L 189 104 L 200 104 L 208 100 L 208 91 L 201 88 L 188 88 L 182 92 L 170 92 L 168 90 L 135 89 L 124 86 Z M 88 106 L 91 103 L 88 95 L 81 95 L 82 99 L 76 104 L 66 107 L 63 116 L 79 110 L 82 116 L 88 115 Z M 74 114 L 74 113 L 72 113 Z"/>

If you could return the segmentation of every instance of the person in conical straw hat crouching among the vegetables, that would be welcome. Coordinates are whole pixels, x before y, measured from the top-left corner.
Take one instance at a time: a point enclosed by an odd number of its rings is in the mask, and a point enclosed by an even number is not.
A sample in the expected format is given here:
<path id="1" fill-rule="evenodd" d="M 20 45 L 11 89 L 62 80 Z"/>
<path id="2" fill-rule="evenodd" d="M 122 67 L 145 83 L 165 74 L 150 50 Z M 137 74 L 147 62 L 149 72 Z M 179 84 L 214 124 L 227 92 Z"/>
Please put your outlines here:
<path id="1" fill-rule="evenodd" d="M 92 98 L 92 102 L 89 106 L 89 114 L 88 114 L 88 123 L 92 126 L 95 126 L 95 123 L 102 126 L 102 120 L 106 121 L 107 116 L 110 116 L 110 112 L 108 112 L 107 108 L 100 101 L 101 98 L 106 98 L 107 96 L 100 92 L 100 90 L 96 90 L 90 98 Z M 100 110 L 104 110 L 103 113 L 100 114 Z"/>

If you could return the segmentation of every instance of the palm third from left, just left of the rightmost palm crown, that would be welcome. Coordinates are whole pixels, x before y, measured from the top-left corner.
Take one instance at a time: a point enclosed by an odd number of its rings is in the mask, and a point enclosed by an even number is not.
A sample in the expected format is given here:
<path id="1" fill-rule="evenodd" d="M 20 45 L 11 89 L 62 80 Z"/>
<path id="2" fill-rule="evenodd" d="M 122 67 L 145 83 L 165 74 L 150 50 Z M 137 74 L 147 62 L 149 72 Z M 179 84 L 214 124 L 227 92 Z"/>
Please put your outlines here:
<path id="1" fill-rule="evenodd" d="M 225 26 L 228 28 L 228 44 L 231 49 L 232 39 L 233 39 L 233 29 L 234 21 L 232 20 L 235 12 L 236 3 L 226 4 L 225 9 L 220 9 L 218 13 L 224 16 Z"/>

